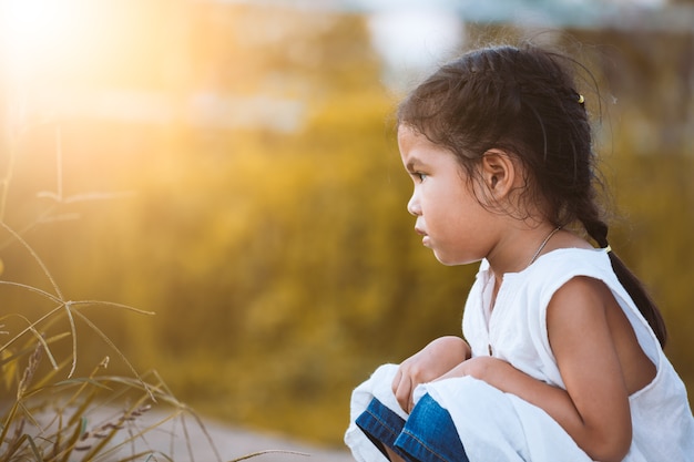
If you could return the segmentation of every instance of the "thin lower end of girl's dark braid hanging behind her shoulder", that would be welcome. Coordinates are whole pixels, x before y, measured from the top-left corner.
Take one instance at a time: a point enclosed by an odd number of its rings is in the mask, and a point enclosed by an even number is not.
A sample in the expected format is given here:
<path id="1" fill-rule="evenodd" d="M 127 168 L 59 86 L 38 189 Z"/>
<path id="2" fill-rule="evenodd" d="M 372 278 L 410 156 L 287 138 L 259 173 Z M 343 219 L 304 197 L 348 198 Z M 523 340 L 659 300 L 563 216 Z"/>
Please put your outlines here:
<path id="1" fill-rule="evenodd" d="M 601 220 L 594 222 L 583 222 L 583 226 L 588 234 L 595 239 L 600 247 L 609 247 L 608 244 L 608 225 Z M 665 328 L 665 321 L 663 320 L 663 316 L 661 311 L 657 309 L 657 306 L 653 301 L 653 299 L 649 296 L 643 284 L 634 276 L 634 274 L 624 265 L 624 261 L 618 257 L 613 250 L 610 250 L 609 254 L 610 261 L 612 263 L 612 269 L 616 275 L 618 279 L 626 289 L 626 292 L 631 296 L 632 300 L 641 311 L 641 315 L 645 318 L 653 329 L 655 337 L 661 343 L 661 347 L 665 347 L 667 341 L 667 329 Z"/>

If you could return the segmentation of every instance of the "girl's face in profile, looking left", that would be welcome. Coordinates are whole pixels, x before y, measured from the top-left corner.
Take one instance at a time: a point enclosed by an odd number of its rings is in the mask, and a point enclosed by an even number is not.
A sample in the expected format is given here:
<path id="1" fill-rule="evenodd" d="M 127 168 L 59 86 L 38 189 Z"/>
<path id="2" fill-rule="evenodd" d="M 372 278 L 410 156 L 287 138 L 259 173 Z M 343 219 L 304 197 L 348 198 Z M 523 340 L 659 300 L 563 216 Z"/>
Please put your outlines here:
<path id="1" fill-rule="evenodd" d="M 398 129 L 398 147 L 415 183 L 407 209 L 417 217 L 422 244 L 443 265 L 484 258 L 493 247 L 493 217 L 478 202 L 455 155 L 406 125 Z"/>

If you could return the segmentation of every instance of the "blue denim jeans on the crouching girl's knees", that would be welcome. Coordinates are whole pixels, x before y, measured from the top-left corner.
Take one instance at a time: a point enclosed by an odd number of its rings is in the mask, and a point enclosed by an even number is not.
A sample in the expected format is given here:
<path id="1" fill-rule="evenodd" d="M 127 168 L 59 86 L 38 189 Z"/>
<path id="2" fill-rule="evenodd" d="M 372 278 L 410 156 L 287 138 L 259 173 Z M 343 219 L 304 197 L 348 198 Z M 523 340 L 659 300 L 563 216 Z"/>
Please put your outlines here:
<path id="1" fill-rule="evenodd" d="M 409 462 L 469 462 L 450 414 L 429 394 L 407 420 L 374 398 L 355 423 L 386 458 L 388 446 Z"/>

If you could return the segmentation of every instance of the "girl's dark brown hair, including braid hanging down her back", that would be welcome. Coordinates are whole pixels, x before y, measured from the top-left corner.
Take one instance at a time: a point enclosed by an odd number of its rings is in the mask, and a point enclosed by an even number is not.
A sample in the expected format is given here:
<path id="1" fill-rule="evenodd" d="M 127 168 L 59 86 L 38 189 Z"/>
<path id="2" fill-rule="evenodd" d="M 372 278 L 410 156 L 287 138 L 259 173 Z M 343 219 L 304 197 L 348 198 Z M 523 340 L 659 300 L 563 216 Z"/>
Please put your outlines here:
<path id="1" fill-rule="evenodd" d="M 499 148 L 523 166 L 527 204 L 543 204 L 557 226 L 581 223 L 601 247 L 608 224 L 591 126 L 575 88 L 575 61 L 532 44 L 484 48 L 441 66 L 398 107 L 398 124 L 449 148 L 468 178 L 482 155 Z M 643 285 L 610 251 L 612 267 L 661 345 L 663 318 Z"/>

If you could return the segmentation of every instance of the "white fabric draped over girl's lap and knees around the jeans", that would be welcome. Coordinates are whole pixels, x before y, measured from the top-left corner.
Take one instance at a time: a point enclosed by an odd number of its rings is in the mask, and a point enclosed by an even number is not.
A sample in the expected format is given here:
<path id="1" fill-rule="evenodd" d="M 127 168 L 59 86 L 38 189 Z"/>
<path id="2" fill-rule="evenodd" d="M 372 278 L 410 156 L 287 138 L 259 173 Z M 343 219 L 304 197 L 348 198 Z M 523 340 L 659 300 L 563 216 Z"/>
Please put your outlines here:
<path id="1" fill-rule="evenodd" d="M 397 366 L 385 365 L 357 389 L 351 398 L 350 425 L 345 443 L 358 462 L 387 459 L 354 423 L 372 398 L 402 419 L 390 390 Z M 456 430 L 470 462 L 590 462 L 571 437 L 543 410 L 471 377 L 419 386 L 415 402 L 429 393 L 453 415 Z"/>

